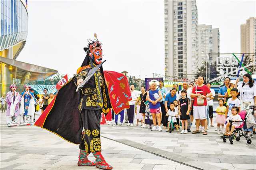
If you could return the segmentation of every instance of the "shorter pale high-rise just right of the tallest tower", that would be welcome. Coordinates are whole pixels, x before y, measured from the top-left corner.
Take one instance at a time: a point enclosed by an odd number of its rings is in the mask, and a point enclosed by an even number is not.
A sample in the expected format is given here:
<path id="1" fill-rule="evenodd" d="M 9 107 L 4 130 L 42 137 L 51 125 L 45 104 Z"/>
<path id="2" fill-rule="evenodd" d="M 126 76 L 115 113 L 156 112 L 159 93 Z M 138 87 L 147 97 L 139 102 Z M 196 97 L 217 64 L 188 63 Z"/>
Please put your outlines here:
<path id="1" fill-rule="evenodd" d="M 215 63 L 218 54 L 220 52 L 220 32 L 218 28 L 212 28 L 212 26 L 206 26 L 205 24 L 198 25 L 198 67 L 202 67 L 206 60 L 210 63 Z"/>

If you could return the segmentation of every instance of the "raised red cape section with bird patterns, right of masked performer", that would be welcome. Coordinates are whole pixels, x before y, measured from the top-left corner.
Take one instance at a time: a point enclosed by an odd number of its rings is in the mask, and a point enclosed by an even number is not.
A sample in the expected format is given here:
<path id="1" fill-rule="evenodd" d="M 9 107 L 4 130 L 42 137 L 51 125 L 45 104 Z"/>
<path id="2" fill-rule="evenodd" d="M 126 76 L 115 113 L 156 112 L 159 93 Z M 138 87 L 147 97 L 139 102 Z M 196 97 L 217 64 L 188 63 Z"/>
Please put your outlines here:
<path id="1" fill-rule="evenodd" d="M 115 71 L 104 71 L 108 95 L 112 109 L 116 114 L 124 109 L 130 108 L 129 101 L 132 100 L 127 77 Z"/>

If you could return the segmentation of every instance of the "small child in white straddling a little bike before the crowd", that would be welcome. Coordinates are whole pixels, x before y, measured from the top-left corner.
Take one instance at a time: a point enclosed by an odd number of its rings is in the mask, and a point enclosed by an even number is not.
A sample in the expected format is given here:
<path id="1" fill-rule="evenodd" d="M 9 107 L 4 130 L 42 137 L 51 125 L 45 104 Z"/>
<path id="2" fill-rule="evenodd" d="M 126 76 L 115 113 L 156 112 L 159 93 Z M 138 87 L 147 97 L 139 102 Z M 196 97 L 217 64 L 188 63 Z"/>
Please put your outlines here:
<path id="1" fill-rule="evenodd" d="M 179 128 L 177 125 L 177 119 L 178 117 L 178 110 L 175 108 L 174 103 L 170 103 L 170 109 L 167 111 L 166 116 L 168 116 L 168 130 L 166 132 L 172 132 L 172 129 L 170 129 L 170 123 L 172 121 L 173 125 L 176 127 L 176 132 L 178 132 Z"/>

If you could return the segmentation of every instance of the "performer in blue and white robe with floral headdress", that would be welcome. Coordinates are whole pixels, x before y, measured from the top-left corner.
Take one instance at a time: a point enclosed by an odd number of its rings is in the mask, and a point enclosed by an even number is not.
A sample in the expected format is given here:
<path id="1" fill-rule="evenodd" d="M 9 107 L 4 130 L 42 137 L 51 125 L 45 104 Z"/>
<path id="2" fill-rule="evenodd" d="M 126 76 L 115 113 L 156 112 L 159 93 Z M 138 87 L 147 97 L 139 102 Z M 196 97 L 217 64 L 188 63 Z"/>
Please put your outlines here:
<path id="1" fill-rule="evenodd" d="M 36 98 L 30 92 L 30 85 L 24 85 L 25 91 L 21 93 L 20 101 L 20 125 L 33 125 Z"/>

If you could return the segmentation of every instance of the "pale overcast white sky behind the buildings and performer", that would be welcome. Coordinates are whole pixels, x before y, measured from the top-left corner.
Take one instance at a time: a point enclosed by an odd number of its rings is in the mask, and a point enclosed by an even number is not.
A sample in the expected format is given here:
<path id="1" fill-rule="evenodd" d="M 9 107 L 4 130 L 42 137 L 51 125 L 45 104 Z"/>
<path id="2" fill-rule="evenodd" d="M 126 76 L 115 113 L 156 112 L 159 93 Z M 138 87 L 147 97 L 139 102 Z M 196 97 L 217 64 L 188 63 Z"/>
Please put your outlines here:
<path id="1" fill-rule="evenodd" d="M 220 29 L 220 52 L 240 52 L 240 24 L 256 16 L 255 0 L 197 0 L 199 24 Z M 69 77 L 94 32 L 104 70 L 142 78 L 164 75 L 164 0 L 29 0 L 28 38 L 17 60 Z"/>

